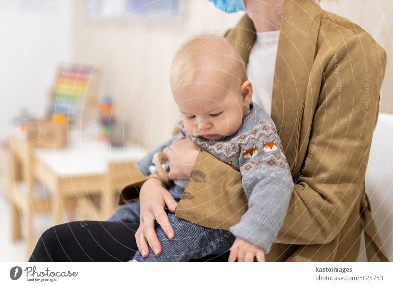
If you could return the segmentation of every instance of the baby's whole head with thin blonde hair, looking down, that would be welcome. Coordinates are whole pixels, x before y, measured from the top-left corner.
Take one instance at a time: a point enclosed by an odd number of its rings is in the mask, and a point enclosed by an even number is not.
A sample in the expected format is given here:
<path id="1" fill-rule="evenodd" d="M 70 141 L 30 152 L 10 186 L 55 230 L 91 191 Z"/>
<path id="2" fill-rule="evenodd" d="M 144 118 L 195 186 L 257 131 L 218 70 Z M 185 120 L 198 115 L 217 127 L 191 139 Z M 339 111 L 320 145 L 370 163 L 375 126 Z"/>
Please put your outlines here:
<path id="1" fill-rule="evenodd" d="M 240 55 L 223 38 L 187 41 L 173 59 L 170 84 L 184 126 L 194 136 L 233 135 L 249 113 L 251 82 Z"/>

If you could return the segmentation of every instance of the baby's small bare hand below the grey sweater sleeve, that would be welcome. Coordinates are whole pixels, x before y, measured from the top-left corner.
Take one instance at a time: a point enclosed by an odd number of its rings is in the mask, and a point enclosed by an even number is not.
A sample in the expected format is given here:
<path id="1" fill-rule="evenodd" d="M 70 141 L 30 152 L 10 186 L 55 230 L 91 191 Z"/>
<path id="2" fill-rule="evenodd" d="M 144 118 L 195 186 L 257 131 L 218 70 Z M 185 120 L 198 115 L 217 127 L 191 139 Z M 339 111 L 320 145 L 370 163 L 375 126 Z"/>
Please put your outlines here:
<path id="1" fill-rule="evenodd" d="M 243 238 L 237 237 L 230 248 L 229 262 L 254 261 L 254 257 L 258 262 L 265 262 L 265 251 L 262 247 L 255 245 Z"/>

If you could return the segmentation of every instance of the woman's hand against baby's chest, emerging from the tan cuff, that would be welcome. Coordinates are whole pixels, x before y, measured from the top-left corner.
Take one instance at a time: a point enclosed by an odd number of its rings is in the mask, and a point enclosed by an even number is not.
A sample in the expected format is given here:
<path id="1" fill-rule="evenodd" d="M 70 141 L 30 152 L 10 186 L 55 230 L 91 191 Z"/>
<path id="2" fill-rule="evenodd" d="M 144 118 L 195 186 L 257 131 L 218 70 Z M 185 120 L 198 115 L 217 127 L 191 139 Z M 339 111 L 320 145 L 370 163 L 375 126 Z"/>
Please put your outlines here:
<path id="1" fill-rule="evenodd" d="M 171 180 L 188 179 L 197 157 L 200 147 L 189 137 L 172 142 L 172 148 L 165 151 L 169 159 L 169 178 Z"/>

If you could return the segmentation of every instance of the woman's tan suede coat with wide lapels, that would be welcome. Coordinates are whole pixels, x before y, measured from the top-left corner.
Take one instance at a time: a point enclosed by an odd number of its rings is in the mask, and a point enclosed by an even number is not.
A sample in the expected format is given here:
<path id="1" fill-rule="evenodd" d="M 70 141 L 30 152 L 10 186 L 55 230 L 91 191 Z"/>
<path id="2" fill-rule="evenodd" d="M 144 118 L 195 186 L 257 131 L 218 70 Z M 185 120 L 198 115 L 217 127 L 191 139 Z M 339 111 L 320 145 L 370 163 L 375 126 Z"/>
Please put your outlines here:
<path id="1" fill-rule="evenodd" d="M 275 12 L 282 18 L 271 116 L 295 187 L 267 261 L 356 261 L 362 229 L 368 259 L 387 261 L 364 183 L 385 51 L 365 30 L 313 0 L 286 0 Z M 252 20 L 245 15 L 225 37 L 247 64 L 256 39 Z M 247 209 L 240 173 L 206 152 L 196 173 L 203 179 L 190 180 L 188 204 L 182 199 L 176 215 L 212 227 L 215 213 L 230 217 L 238 207 L 235 221 L 226 222 L 234 224 Z"/>

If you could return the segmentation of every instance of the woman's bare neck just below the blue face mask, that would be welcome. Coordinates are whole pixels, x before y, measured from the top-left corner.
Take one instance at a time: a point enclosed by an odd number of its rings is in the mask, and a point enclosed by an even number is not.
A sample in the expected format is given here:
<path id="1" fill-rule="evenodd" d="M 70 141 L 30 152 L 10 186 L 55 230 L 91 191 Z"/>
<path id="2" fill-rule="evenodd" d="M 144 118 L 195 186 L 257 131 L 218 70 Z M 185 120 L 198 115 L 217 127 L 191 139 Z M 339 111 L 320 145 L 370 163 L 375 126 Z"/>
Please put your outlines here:
<path id="1" fill-rule="evenodd" d="M 285 0 L 244 0 L 244 3 L 257 32 L 280 29 Z"/>

